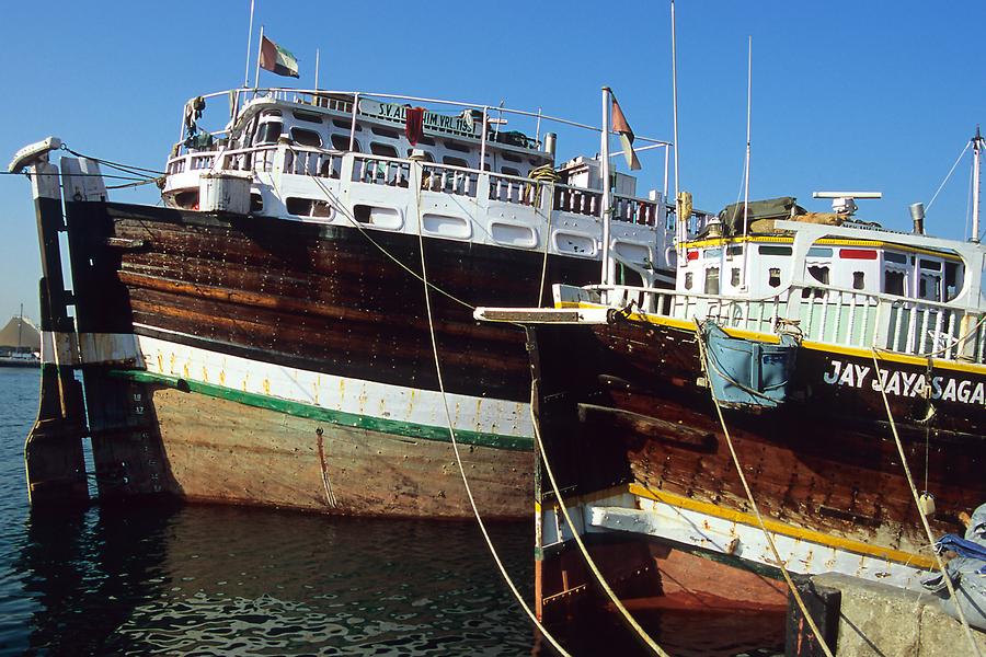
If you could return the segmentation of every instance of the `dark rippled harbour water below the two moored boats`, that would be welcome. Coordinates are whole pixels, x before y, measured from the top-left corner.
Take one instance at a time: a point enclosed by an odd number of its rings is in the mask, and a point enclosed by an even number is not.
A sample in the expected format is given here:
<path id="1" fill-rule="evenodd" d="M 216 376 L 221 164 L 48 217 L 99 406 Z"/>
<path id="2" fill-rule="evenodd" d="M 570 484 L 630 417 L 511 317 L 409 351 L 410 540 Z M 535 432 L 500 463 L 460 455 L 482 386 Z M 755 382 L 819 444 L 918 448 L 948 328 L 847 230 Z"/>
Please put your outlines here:
<path id="1" fill-rule="evenodd" d="M 469 522 L 219 506 L 32 515 L 23 446 L 38 378 L 0 368 L 0 654 L 549 654 Z M 492 532 L 530 599 L 530 523 Z M 708 621 L 668 616 L 661 633 L 698 627 L 701 643 L 676 652 L 735 653 Z M 719 621 L 722 634 L 749 625 Z M 577 654 L 633 646 L 617 626 L 572 641 Z"/>

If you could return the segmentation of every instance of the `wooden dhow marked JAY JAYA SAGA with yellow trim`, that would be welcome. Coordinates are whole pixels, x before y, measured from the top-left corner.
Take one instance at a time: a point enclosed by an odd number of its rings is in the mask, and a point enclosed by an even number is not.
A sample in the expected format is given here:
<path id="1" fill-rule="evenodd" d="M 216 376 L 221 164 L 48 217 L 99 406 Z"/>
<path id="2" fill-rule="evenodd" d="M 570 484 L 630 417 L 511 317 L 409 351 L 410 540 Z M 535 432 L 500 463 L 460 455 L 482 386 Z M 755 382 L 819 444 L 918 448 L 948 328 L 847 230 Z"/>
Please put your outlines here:
<path id="1" fill-rule="evenodd" d="M 596 590 L 576 537 L 631 611 L 782 609 L 782 569 L 919 590 L 986 499 L 986 249 L 827 196 L 692 217 L 674 290 L 477 310 L 527 326 L 542 618 Z"/>

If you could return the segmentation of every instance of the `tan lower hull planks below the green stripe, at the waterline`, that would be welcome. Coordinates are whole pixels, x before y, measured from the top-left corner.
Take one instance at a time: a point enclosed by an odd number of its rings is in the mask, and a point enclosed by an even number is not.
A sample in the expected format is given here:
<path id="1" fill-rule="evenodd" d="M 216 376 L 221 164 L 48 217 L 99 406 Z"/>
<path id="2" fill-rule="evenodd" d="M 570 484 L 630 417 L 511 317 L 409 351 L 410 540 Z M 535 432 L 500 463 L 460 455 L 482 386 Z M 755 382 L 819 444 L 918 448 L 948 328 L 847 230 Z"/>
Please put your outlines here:
<path id="1" fill-rule="evenodd" d="M 293 417 L 159 389 L 151 394 L 172 493 L 360 516 L 471 518 L 447 442 Z M 460 446 L 483 517 L 526 518 L 534 453 Z"/>

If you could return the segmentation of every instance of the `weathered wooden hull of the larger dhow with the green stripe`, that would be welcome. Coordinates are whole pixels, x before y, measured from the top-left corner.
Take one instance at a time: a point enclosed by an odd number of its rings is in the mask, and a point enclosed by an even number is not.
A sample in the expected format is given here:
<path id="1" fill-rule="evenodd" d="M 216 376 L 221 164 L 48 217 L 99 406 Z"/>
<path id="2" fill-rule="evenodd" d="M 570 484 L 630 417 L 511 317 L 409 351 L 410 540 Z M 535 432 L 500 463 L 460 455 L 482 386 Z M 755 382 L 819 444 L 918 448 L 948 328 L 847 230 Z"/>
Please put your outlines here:
<path id="1" fill-rule="evenodd" d="M 119 204 L 66 209 L 80 334 L 133 334 L 138 345 L 358 380 L 412 400 L 439 390 L 423 284 L 411 273 L 422 268 L 416 235 Z M 538 302 L 542 255 L 426 239 L 425 260 L 446 392 L 519 407 L 530 390 L 524 333 L 478 324 L 471 307 Z M 598 268 L 550 256 L 547 280 L 591 283 Z M 246 384 L 225 371 L 208 381 L 219 393 L 200 394 L 195 387 L 210 372 L 198 364 L 164 364 L 160 380 L 117 369 L 84 371 L 101 496 L 471 515 L 437 407 L 428 426 L 390 433 L 380 417 L 322 413 L 328 393 L 286 407 L 274 393 L 237 397 Z M 526 517 L 530 436 L 516 427 L 504 435 L 506 445 L 465 440 L 463 459 L 482 512 Z"/>

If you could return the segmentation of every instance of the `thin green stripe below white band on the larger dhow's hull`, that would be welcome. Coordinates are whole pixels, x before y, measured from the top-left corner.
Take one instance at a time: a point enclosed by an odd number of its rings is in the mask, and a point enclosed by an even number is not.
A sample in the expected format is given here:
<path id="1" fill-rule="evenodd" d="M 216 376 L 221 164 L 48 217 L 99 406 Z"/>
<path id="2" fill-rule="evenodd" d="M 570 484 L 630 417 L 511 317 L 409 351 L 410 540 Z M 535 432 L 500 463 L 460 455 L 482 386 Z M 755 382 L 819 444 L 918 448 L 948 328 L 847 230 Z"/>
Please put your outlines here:
<path id="1" fill-rule="evenodd" d="M 228 400 L 239 404 L 254 406 L 256 408 L 266 408 L 294 417 L 317 419 L 344 427 L 405 436 L 408 438 L 451 442 L 451 437 L 448 435 L 448 427 L 436 427 L 395 419 L 382 419 L 380 417 L 370 417 L 368 415 L 357 415 L 355 413 L 344 413 L 342 411 L 330 411 L 329 408 L 322 408 L 321 406 L 316 406 L 313 404 L 267 396 L 255 392 L 233 390 L 222 385 L 203 383 L 200 381 L 192 381 L 179 377 L 156 374 L 148 371 L 112 370 L 110 373 L 114 377 L 130 379 L 131 381 L 138 381 L 140 383 L 156 383 L 176 390 L 197 392 L 207 396 Z M 503 436 L 500 434 L 456 429 L 456 441 L 463 445 L 492 447 L 495 449 L 508 449 L 515 451 L 534 450 L 534 439 L 525 436 Z"/>

